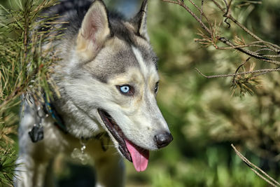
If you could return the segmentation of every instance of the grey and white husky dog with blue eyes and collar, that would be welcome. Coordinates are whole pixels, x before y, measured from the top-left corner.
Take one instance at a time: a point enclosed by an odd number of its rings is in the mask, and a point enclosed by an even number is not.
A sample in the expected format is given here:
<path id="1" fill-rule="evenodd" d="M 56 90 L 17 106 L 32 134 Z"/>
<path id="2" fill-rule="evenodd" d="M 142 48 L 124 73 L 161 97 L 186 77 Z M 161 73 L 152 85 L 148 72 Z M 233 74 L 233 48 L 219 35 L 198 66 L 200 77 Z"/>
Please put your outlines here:
<path id="1" fill-rule="evenodd" d="M 124 186 L 122 157 L 144 171 L 149 151 L 172 141 L 155 99 L 159 76 L 146 11 L 146 0 L 130 20 L 108 13 L 102 0 L 50 8 L 68 22 L 55 43 L 62 60 L 52 75 L 61 97 L 45 102 L 46 110 L 23 102 L 15 186 L 51 186 L 48 168 L 58 153 L 93 160 L 97 186 Z"/>

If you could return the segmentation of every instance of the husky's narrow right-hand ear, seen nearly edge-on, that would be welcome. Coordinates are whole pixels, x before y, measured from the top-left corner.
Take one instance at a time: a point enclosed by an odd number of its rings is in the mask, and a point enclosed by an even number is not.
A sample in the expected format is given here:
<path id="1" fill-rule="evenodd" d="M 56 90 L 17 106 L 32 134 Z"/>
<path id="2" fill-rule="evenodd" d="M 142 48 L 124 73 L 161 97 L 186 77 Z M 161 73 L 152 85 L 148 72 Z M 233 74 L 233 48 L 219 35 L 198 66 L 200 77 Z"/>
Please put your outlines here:
<path id="1" fill-rule="evenodd" d="M 134 26 L 134 29 L 137 31 L 137 34 L 147 41 L 149 41 L 148 32 L 147 32 L 147 5 L 148 0 L 142 2 L 140 11 L 137 15 L 132 18 L 130 22 Z"/>

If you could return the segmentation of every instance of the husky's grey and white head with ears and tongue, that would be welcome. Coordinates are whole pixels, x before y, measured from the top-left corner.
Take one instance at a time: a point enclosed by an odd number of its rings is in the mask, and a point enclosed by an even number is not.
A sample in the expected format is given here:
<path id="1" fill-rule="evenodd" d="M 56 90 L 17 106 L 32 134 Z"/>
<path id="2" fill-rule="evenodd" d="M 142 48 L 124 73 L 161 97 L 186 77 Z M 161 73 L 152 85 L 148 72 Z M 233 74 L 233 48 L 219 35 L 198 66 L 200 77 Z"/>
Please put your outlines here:
<path id="1" fill-rule="evenodd" d="M 94 1 L 76 35 L 71 76 L 64 83 L 84 118 L 97 120 L 137 171 L 146 169 L 148 150 L 173 139 L 155 99 L 160 78 L 146 11 L 144 0 L 134 18 L 123 20 L 109 16 L 103 1 Z"/>

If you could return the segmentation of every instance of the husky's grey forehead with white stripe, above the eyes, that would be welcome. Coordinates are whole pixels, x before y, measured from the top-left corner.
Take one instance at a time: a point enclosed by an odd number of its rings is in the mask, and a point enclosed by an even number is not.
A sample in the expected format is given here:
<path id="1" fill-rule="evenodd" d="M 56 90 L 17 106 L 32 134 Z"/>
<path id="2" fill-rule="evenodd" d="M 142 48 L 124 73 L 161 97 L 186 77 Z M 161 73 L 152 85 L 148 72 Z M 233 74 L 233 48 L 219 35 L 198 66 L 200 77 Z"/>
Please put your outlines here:
<path id="1" fill-rule="evenodd" d="M 115 36 L 107 41 L 97 57 L 87 64 L 87 69 L 90 69 L 94 78 L 106 83 L 110 78 L 124 74 L 131 68 L 139 69 L 144 76 L 148 76 L 150 71 L 157 74 L 156 59 L 148 42 L 135 39 L 134 43 L 128 43 Z"/>

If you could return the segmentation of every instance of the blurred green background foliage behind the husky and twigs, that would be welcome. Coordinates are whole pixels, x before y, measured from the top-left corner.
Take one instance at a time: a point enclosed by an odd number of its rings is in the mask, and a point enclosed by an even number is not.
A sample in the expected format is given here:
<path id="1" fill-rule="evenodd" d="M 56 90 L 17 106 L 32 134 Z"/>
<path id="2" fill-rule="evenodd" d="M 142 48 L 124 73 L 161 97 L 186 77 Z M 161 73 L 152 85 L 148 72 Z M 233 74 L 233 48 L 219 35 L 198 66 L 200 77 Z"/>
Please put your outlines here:
<path id="1" fill-rule="evenodd" d="M 279 44 L 279 0 L 258 2 L 262 4 L 235 6 L 232 15 L 262 39 Z M 8 6 L 8 1 L 1 3 Z M 140 3 L 106 1 L 109 8 L 127 16 L 136 13 Z M 223 14 L 215 11 L 211 3 L 204 8 L 211 20 L 222 22 L 223 36 L 241 34 L 251 40 L 234 25 L 228 29 Z M 274 179 L 280 179 L 279 73 L 261 76 L 254 95 L 232 96 L 231 78 L 207 79 L 194 68 L 205 74 L 234 73 L 246 55 L 202 47 L 194 41 L 199 37 L 198 29 L 200 25 L 183 8 L 160 0 L 149 1 L 148 32 L 160 59 L 158 104 L 174 141 L 151 153 L 146 172 L 137 173 L 125 161 L 127 186 L 268 186 L 238 158 L 230 144 L 235 144 L 246 158 Z M 257 67 L 267 67 L 256 63 Z M 59 186 L 86 186 L 85 183 L 94 182 L 87 167 L 66 164 L 57 168 Z M 77 182 L 81 180 L 87 182 Z"/>

